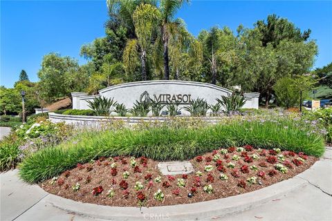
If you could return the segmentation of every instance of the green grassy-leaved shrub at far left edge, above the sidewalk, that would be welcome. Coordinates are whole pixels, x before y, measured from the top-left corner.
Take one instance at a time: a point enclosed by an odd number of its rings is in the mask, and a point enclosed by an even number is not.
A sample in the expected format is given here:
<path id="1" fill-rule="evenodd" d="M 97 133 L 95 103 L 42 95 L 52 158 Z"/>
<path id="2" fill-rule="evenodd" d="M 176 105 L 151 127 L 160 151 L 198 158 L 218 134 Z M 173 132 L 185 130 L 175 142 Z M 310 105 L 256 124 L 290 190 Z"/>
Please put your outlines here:
<path id="1" fill-rule="evenodd" d="M 0 143 L 0 171 L 5 171 L 14 167 L 19 161 L 18 144 L 9 140 Z"/>

